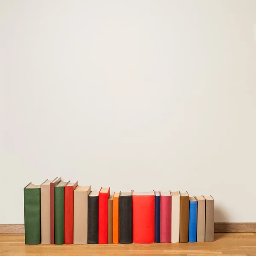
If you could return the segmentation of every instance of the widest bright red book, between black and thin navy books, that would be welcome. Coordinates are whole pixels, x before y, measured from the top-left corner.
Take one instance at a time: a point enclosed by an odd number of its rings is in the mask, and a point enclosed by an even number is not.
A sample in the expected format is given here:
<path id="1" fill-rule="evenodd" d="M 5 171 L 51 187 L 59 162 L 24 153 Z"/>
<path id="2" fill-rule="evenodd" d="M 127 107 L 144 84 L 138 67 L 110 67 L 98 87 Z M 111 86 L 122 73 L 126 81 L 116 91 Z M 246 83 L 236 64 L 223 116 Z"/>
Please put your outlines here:
<path id="1" fill-rule="evenodd" d="M 154 243 L 154 201 L 154 191 L 132 194 L 134 243 Z"/>

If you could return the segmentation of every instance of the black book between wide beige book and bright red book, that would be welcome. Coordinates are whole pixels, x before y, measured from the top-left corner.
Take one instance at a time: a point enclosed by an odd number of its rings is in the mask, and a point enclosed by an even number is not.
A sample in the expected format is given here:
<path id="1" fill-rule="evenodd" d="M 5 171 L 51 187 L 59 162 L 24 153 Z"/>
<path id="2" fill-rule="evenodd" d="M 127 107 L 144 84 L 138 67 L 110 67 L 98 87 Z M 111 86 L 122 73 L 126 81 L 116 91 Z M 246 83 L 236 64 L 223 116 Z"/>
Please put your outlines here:
<path id="1" fill-rule="evenodd" d="M 88 244 L 99 244 L 99 192 L 88 196 Z"/>

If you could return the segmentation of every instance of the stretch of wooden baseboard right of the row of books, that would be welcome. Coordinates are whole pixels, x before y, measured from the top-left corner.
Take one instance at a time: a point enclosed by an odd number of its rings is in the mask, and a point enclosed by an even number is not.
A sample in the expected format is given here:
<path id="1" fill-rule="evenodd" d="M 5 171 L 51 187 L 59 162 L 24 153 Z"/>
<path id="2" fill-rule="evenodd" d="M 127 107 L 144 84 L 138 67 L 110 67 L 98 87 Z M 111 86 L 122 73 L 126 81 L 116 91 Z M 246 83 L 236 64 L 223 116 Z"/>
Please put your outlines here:
<path id="1" fill-rule="evenodd" d="M 215 222 L 214 232 L 256 232 L 256 222 Z"/>

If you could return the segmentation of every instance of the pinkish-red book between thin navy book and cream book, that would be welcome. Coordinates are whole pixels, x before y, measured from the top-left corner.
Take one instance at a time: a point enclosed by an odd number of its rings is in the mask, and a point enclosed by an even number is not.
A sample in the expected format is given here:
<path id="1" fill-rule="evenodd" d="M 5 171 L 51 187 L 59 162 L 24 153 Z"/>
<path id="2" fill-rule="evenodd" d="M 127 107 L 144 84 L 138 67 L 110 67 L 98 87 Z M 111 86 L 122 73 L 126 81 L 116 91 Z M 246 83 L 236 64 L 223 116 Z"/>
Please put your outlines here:
<path id="1" fill-rule="evenodd" d="M 172 196 L 170 191 L 160 192 L 160 242 L 172 241 Z"/>

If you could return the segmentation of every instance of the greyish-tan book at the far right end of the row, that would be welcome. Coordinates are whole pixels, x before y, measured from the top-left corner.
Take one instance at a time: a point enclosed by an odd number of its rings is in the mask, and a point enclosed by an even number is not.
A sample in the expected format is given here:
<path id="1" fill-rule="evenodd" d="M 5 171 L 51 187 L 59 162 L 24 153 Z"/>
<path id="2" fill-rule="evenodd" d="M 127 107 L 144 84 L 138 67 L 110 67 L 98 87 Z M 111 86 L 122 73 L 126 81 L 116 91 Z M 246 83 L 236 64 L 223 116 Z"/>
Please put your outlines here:
<path id="1" fill-rule="evenodd" d="M 214 241 L 214 199 L 211 195 L 204 195 L 205 198 L 205 241 Z"/>

